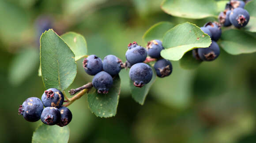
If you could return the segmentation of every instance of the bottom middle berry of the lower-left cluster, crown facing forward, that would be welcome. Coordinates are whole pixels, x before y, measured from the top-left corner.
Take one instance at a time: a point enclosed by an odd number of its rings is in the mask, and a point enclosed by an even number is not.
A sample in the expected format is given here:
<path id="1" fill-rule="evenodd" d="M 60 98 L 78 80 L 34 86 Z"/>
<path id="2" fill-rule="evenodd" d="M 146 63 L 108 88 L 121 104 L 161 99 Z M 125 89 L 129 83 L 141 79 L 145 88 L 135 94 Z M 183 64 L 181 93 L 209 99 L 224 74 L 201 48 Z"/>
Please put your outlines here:
<path id="1" fill-rule="evenodd" d="M 46 107 L 41 114 L 41 121 L 46 125 L 60 123 L 60 110 L 55 107 Z"/>

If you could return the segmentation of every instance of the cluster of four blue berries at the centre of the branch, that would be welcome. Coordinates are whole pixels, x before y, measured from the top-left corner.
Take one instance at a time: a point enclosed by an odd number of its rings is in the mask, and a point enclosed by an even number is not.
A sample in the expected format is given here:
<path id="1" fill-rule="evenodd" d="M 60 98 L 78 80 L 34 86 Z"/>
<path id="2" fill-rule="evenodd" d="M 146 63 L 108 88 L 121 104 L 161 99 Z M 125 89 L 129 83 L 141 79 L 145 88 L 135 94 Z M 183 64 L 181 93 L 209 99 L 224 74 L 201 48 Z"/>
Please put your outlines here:
<path id="1" fill-rule="evenodd" d="M 162 59 L 160 52 L 163 46 L 160 40 L 151 40 L 147 43 L 147 50 L 139 46 L 136 42 L 128 44 L 126 51 L 125 65 L 130 67 L 129 77 L 136 87 L 143 87 L 152 79 L 152 69 L 146 63 L 143 63 L 149 55 L 153 59 L 157 59 L 154 64 L 154 70 L 158 77 L 166 77 L 172 73 L 173 67 L 171 62 Z M 146 60 L 147 61 L 147 60 Z"/>

